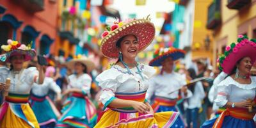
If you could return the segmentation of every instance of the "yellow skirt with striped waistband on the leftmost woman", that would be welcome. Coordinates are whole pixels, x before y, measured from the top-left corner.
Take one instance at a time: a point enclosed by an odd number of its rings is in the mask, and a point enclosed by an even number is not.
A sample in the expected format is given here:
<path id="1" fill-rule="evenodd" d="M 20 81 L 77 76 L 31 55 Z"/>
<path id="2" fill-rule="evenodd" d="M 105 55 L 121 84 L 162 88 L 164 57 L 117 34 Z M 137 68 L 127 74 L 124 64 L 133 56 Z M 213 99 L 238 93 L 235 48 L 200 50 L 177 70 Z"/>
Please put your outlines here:
<path id="1" fill-rule="evenodd" d="M 39 127 L 28 104 L 29 94 L 9 93 L 0 108 L 0 127 Z"/>

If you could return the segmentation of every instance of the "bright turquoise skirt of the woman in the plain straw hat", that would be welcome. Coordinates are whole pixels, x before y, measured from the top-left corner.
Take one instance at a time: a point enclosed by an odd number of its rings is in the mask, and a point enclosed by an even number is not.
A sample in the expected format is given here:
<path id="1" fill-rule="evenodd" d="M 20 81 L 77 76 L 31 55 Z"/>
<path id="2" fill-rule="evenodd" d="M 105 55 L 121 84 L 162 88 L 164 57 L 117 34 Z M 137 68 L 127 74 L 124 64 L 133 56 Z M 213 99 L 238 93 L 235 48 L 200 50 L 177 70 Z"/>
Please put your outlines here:
<path id="1" fill-rule="evenodd" d="M 61 112 L 56 127 L 93 127 L 97 121 L 94 104 L 80 93 L 73 93 Z"/>

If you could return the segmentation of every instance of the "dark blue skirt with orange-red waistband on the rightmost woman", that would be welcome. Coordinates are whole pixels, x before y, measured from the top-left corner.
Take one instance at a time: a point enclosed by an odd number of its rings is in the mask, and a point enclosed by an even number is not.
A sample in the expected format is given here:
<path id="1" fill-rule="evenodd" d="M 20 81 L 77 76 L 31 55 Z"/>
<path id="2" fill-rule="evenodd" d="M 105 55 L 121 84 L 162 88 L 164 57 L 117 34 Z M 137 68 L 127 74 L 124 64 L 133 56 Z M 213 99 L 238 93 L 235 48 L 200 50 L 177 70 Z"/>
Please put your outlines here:
<path id="1" fill-rule="evenodd" d="M 256 127 L 253 120 L 255 113 L 249 113 L 248 109 L 243 108 L 228 108 L 218 118 L 208 120 L 202 125 L 202 128 L 253 128 Z"/>

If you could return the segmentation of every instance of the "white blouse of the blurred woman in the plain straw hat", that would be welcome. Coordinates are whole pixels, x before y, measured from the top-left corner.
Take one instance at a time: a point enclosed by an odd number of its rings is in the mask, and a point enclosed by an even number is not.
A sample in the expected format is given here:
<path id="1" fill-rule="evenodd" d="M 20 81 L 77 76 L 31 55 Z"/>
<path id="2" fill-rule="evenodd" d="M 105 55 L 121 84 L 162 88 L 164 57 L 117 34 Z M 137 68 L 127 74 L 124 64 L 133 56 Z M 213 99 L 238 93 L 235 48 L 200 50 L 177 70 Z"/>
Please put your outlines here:
<path id="1" fill-rule="evenodd" d="M 68 76 L 68 88 L 79 88 L 84 94 L 90 95 L 92 77 L 88 74 L 83 74 L 77 77 L 75 74 Z"/>

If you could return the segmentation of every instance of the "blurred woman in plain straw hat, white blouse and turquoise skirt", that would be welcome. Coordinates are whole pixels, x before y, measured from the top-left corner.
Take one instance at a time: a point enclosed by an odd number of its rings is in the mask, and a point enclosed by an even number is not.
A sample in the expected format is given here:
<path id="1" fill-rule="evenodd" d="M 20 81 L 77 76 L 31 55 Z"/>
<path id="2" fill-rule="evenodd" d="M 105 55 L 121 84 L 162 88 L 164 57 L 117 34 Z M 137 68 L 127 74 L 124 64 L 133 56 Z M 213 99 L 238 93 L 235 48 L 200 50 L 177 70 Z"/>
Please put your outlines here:
<path id="1" fill-rule="evenodd" d="M 71 97 L 65 102 L 56 127 L 93 127 L 97 115 L 95 106 L 90 100 L 92 77 L 87 73 L 91 72 L 95 65 L 93 61 L 81 55 L 65 65 L 75 72 L 68 76 L 68 88 L 63 95 L 71 94 Z"/>

